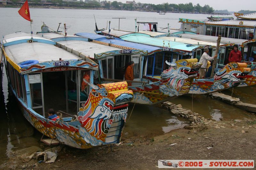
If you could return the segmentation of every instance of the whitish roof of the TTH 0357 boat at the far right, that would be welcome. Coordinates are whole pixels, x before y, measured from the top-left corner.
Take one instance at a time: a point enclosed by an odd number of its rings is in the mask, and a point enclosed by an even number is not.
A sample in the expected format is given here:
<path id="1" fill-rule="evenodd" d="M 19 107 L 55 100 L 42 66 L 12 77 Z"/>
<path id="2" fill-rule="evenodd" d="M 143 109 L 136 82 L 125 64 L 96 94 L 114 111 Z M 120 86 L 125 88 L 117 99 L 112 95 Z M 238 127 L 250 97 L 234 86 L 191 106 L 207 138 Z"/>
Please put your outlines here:
<path id="1" fill-rule="evenodd" d="M 220 26 L 239 26 L 239 27 L 254 27 L 256 25 L 255 20 L 246 19 L 233 19 L 226 21 L 210 21 L 205 22 L 205 25 L 220 25 Z"/>

